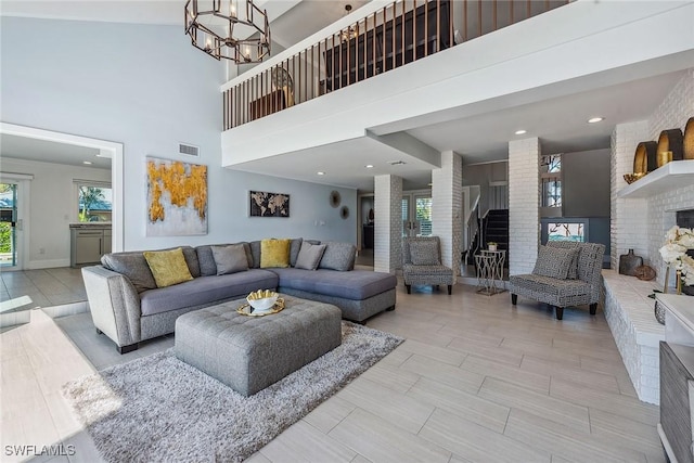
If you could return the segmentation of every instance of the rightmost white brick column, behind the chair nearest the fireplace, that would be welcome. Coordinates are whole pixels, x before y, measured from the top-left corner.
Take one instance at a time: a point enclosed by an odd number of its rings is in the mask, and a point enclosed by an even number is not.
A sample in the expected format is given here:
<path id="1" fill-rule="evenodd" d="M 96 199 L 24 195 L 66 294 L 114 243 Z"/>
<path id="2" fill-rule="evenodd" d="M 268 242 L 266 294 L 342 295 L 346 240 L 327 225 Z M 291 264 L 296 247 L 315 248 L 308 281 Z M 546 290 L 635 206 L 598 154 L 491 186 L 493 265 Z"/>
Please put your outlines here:
<path id="1" fill-rule="evenodd" d="M 509 271 L 530 273 L 540 245 L 540 140 L 509 142 Z"/>

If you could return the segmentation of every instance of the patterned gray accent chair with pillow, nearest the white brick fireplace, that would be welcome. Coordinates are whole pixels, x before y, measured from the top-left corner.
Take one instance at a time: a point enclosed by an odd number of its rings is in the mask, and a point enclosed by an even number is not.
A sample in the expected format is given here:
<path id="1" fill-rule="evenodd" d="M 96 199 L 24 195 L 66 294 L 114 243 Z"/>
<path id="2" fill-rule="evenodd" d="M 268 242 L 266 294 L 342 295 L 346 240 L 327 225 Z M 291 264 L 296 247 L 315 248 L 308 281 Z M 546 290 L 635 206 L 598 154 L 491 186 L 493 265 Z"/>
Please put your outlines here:
<path id="1" fill-rule="evenodd" d="M 511 304 L 518 295 L 549 304 L 556 319 L 564 317 L 564 307 L 590 305 L 594 316 L 602 294 L 602 263 L 605 245 L 550 241 L 540 246 L 538 260 L 530 274 L 511 275 Z"/>

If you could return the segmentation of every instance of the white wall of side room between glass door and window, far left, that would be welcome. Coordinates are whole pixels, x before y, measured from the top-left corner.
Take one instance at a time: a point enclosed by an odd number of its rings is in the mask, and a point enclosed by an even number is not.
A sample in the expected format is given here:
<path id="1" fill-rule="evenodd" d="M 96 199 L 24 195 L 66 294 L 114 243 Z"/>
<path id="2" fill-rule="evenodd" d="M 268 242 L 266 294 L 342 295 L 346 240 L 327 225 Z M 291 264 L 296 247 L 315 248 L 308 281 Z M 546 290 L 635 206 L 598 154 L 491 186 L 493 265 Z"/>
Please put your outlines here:
<path id="1" fill-rule="evenodd" d="M 25 268 L 69 266 L 69 223 L 77 216 L 74 180 L 111 181 L 111 170 L 3 157 L 2 171 L 34 176 L 29 217 L 23 219 L 29 231 L 22 236 L 29 240 L 29 255 L 21 257 Z"/>

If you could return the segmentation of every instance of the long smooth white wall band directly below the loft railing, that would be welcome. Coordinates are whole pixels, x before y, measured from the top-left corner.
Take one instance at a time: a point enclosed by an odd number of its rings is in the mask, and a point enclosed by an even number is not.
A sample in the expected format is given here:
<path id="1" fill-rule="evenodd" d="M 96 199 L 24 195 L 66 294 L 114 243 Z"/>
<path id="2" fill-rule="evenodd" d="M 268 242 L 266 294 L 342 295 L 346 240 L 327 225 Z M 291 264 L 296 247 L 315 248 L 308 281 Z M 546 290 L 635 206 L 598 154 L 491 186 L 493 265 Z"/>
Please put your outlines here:
<path id="1" fill-rule="evenodd" d="M 693 13 L 692 2 L 575 1 L 227 130 L 222 164 L 358 139 L 364 129 L 393 133 L 683 69 L 694 53 Z"/>

